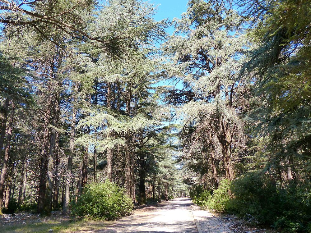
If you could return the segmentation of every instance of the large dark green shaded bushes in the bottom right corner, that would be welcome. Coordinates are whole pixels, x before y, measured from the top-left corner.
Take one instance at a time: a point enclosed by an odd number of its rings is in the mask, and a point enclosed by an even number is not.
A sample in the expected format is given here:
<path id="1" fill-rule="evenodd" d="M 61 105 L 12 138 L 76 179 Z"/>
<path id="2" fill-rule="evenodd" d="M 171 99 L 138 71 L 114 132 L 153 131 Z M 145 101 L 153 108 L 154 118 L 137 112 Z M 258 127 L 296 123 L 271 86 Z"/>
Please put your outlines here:
<path id="1" fill-rule="evenodd" d="M 286 232 L 311 232 L 311 194 L 306 185 L 282 189 L 271 176 L 248 172 L 230 188 L 234 199 L 229 202 L 229 212 L 239 217 L 250 214 L 258 222 Z"/>

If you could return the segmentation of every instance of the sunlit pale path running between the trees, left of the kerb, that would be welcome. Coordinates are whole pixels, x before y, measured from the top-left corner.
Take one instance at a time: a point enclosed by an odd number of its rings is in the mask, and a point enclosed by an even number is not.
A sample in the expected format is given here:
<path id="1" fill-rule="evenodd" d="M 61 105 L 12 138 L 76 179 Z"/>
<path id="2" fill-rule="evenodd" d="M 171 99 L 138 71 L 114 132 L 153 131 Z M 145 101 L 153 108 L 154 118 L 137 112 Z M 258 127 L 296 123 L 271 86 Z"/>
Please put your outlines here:
<path id="1" fill-rule="evenodd" d="M 84 233 L 197 233 L 190 199 L 178 198 L 137 209 L 104 229 Z"/>

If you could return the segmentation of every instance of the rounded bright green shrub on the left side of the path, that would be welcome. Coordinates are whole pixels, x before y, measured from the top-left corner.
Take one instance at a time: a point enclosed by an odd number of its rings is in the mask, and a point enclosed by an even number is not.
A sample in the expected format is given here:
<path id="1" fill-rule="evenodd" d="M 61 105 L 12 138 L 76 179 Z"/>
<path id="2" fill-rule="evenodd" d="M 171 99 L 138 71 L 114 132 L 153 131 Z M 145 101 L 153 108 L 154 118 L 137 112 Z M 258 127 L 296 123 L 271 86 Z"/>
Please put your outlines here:
<path id="1" fill-rule="evenodd" d="M 132 211 L 132 199 L 117 184 L 105 181 L 91 183 L 73 205 L 72 213 L 80 217 L 112 220 Z"/>

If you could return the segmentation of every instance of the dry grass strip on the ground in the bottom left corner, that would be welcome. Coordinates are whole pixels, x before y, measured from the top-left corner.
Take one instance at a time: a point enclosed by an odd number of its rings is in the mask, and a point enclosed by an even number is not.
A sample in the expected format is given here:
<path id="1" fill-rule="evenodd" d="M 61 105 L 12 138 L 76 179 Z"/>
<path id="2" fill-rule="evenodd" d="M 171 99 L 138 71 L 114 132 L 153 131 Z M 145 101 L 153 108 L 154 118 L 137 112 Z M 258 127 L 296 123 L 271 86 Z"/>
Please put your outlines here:
<path id="1" fill-rule="evenodd" d="M 75 231 L 87 231 L 102 229 L 106 225 L 104 221 L 49 221 L 29 224 L 17 224 L 14 226 L 1 226 L 3 233 L 47 233 L 53 229 L 53 233 L 70 233 Z"/>

